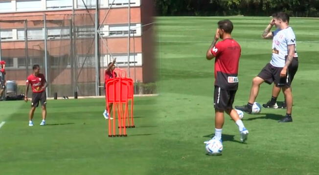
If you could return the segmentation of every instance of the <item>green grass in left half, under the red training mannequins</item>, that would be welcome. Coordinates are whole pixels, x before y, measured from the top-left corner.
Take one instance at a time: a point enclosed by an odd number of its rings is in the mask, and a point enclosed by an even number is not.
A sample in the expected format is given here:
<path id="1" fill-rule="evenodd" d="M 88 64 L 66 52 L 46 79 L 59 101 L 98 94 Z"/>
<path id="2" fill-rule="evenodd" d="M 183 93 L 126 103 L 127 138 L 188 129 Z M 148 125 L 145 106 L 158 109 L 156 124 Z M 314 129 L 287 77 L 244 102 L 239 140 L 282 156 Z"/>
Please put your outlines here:
<path id="1" fill-rule="evenodd" d="M 126 138 L 108 137 L 104 104 L 103 98 L 49 100 L 47 125 L 39 126 L 39 108 L 35 126 L 28 127 L 30 103 L 1 102 L 6 123 L 0 129 L 0 174 L 147 174 L 148 169 L 137 167 L 152 166 L 154 97 L 136 98 L 137 128 L 128 129 Z"/>

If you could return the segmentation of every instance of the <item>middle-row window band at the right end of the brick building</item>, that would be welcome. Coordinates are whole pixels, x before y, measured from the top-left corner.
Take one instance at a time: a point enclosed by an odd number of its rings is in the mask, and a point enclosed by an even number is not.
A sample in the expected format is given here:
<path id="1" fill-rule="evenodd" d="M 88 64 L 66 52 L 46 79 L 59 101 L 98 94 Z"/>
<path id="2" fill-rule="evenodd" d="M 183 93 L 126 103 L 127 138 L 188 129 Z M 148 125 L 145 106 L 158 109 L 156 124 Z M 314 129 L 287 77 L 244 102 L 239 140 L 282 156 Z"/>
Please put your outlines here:
<path id="1" fill-rule="evenodd" d="M 109 36 L 111 37 L 123 37 L 129 34 L 128 24 L 114 24 L 109 26 Z M 131 36 L 140 36 L 140 24 L 131 24 Z"/>

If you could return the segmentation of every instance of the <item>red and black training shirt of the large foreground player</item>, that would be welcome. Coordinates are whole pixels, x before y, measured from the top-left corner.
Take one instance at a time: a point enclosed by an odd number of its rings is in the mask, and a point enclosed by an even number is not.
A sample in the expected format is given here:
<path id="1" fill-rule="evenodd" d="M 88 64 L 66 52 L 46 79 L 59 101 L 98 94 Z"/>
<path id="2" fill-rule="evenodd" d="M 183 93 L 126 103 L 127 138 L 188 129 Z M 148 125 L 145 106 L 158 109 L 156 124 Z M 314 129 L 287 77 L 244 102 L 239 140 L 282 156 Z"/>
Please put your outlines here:
<path id="1" fill-rule="evenodd" d="M 233 39 L 218 42 L 211 50 L 215 59 L 215 86 L 228 90 L 238 88 L 240 45 Z"/>

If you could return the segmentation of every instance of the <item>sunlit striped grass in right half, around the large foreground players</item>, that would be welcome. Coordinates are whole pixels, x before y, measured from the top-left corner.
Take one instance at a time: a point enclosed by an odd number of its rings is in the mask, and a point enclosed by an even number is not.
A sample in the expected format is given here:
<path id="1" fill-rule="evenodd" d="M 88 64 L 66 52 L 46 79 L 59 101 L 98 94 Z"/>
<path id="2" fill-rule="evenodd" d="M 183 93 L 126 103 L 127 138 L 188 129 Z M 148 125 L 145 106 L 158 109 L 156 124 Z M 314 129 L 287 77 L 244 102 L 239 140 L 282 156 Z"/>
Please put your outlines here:
<path id="1" fill-rule="evenodd" d="M 299 55 L 299 70 L 293 83 L 293 123 L 277 123 L 283 109 L 262 109 L 245 114 L 250 135 L 240 144 L 239 132 L 228 115 L 223 129 L 222 156 L 206 156 L 203 141 L 214 133 L 213 66 L 205 54 L 217 22 L 234 23 L 232 37 L 242 46 L 239 89 L 234 105 L 248 101 L 251 79 L 271 59 L 271 40 L 261 39 L 270 21 L 265 17 L 160 17 L 158 58 L 160 97 L 160 150 L 157 171 L 163 175 L 204 174 L 319 174 L 319 29 L 318 19 L 291 18 Z M 256 99 L 267 102 L 272 86 L 260 87 Z M 278 98 L 283 100 L 281 94 Z M 161 161 L 166 160 L 166 161 Z"/>

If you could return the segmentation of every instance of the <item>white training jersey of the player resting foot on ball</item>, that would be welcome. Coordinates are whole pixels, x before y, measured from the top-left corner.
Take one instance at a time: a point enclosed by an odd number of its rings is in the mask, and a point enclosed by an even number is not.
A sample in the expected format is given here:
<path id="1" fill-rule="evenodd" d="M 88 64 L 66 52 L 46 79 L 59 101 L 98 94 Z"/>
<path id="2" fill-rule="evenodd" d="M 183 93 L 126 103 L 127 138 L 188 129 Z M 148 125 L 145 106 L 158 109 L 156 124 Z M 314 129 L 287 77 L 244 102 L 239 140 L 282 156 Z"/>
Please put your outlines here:
<path id="1" fill-rule="evenodd" d="M 296 36 L 293 29 L 287 27 L 273 31 L 273 55 L 270 64 L 275 67 L 284 67 L 285 56 L 288 55 L 288 45 L 292 44 L 295 44 L 294 57 L 298 57 L 296 52 Z"/>

